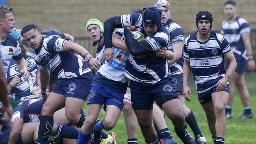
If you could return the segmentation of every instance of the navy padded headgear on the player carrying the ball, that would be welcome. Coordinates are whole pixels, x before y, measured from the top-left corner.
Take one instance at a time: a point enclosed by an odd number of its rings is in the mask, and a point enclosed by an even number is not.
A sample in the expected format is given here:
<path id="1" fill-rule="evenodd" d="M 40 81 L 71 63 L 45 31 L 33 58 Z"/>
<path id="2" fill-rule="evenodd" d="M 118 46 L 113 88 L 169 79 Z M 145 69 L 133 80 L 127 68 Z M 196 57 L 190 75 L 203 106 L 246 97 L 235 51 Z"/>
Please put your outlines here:
<path id="1" fill-rule="evenodd" d="M 158 29 L 160 28 L 162 14 L 156 7 L 147 7 L 142 15 L 142 22 L 145 24 L 156 24 Z"/>

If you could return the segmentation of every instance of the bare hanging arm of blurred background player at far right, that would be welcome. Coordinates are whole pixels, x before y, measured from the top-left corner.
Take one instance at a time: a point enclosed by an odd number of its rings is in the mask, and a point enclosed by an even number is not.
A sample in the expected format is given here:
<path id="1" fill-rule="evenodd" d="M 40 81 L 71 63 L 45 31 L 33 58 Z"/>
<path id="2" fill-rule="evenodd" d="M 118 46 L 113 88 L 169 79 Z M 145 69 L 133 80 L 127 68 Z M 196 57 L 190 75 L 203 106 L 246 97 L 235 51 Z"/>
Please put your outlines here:
<path id="1" fill-rule="evenodd" d="M 254 59 L 252 57 L 252 46 L 250 44 L 250 33 L 244 34 L 241 36 L 243 43 L 245 44 L 245 49 L 247 51 L 247 57 L 248 57 L 248 70 L 254 70 L 256 68 Z"/>

